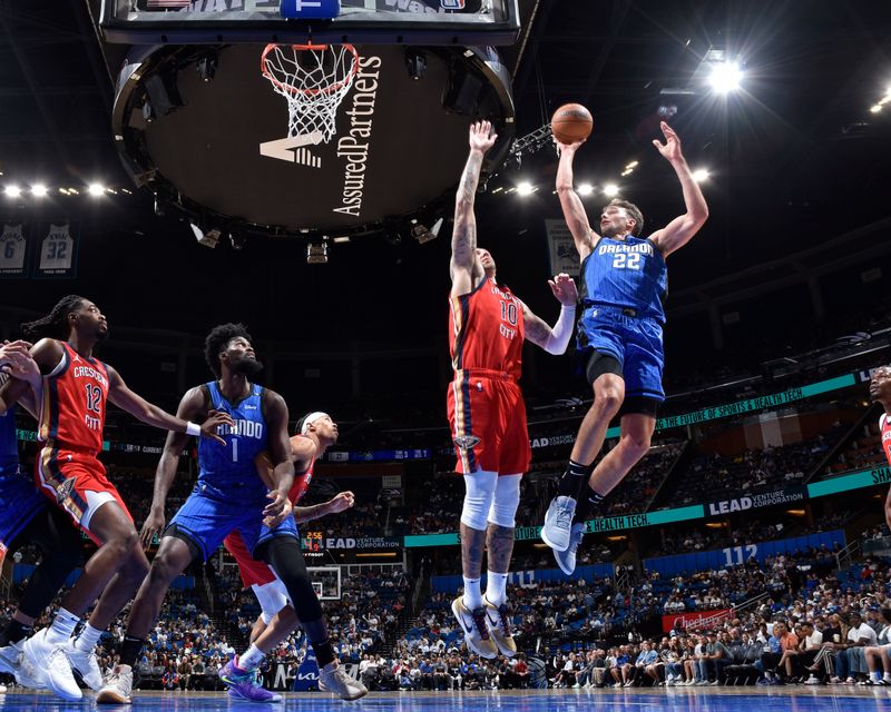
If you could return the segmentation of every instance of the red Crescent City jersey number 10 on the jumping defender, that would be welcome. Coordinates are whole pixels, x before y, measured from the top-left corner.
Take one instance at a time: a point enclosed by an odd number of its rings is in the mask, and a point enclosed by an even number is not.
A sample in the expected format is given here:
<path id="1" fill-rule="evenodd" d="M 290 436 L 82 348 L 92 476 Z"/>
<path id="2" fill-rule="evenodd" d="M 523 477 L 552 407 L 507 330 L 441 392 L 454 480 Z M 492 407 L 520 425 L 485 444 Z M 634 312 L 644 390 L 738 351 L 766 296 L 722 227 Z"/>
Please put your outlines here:
<path id="1" fill-rule="evenodd" d="M 520 378 L 522 305 L 486 277 L 470 294 L 451 298 L 449 349 L 452 368 L 495 370 Z"/>

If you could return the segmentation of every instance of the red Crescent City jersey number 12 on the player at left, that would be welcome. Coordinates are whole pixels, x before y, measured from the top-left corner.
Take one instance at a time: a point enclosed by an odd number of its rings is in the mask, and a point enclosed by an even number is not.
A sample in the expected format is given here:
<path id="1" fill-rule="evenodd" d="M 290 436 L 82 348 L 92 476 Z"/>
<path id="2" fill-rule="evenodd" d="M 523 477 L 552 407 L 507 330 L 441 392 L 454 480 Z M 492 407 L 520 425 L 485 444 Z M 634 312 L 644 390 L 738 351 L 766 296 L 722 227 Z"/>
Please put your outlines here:
<path id="1" fill-rule="evenodd" d="M 102 449 L 108 370 L 102 362 L 85 358 L 65 342 L 59 365 L 43 376 L 38 437 L 56 447 L 87 452 Z"/>

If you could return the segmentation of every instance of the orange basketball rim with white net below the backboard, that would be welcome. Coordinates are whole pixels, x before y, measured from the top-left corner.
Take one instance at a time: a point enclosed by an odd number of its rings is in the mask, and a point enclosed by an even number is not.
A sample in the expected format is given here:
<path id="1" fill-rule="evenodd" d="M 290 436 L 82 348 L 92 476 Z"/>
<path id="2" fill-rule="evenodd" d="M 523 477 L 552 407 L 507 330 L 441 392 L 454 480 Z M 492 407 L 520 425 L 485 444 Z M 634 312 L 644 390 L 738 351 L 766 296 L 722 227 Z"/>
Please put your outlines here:
<path id="1" fill-rule="evenodd" d="M 260 70 L 287 101 L 288 138 L 327 142 L 359 71 L 359 52 L 352 44 L 266 44 Z"/>

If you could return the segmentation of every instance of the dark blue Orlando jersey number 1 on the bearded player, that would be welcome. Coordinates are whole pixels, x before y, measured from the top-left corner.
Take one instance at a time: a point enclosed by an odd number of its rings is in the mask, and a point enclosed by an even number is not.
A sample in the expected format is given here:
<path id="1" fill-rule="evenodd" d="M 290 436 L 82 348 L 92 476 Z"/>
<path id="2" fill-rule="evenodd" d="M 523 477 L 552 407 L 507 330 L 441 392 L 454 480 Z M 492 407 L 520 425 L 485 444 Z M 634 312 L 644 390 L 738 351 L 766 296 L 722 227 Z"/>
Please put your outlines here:
<path id="1" fill-rule="evenodd" d="M 210 407 L 228 413 L 235 427 L 221 425 L 217 434 L 226 441 L 223 447 L 209 437 L 198 439 L 198 490 L 245 504 L 266 496 L 266 485 L 257 474 L 254 457 L 266 449 L 266 422 L 263 418 L 263 388 L 252 386 L 251 395 L 232 404 L 219 393 L 216 382 L 206 384 Z"/>

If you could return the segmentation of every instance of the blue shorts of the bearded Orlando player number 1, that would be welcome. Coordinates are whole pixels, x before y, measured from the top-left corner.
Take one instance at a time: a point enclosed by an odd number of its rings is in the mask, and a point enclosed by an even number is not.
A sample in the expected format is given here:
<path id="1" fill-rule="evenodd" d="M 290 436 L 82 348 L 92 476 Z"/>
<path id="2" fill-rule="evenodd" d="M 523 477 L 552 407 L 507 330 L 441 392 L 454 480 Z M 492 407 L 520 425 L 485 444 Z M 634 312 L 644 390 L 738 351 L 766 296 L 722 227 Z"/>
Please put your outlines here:
<path id="1" fill-rule="evenodd" d="M 176 526 L 177 533 L 192 541 L 204 561 L 219 548 L 231 532 L 237 531 L 242 535 L 244 545 L 252 555 L 260 544 L 276 536 L 293 536 L 296 540 L 297 526 L 293 516 L 287 517 L 274 530 L 263 524 L 263 507 L 266 503 L 263 501 L 245 506 L 243 502 L 209 496 L 200 485 L 196 485 L 188 500 L 170 520 L 167 531 Z"/>

